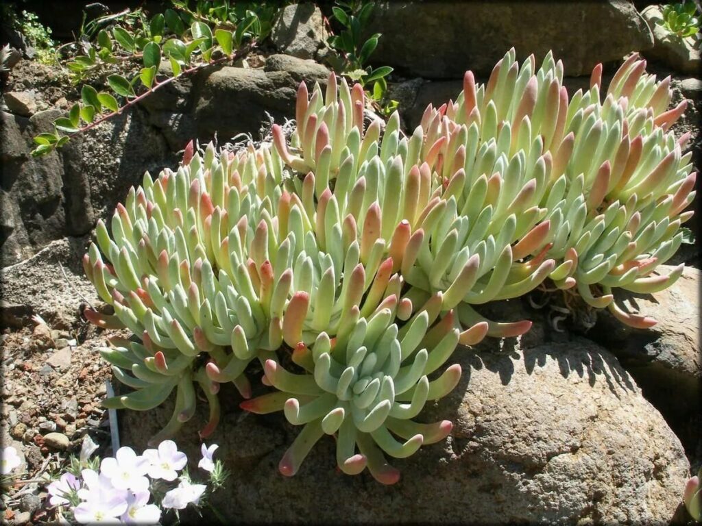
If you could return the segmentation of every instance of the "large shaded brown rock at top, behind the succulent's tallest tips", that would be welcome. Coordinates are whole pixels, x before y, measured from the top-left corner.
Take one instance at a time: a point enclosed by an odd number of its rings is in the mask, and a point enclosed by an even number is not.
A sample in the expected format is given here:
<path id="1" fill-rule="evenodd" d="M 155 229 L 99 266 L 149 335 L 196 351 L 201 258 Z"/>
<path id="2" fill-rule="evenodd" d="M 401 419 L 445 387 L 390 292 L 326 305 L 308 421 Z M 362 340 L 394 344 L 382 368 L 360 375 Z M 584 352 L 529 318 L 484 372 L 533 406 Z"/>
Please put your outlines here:
<path id="1" fill-rule="evenodd" d="M 512 46 L 520 61 L 529 53 L 538 61 L 553 50 L 566 74 L 578 76 L 589 75 L 597 62 L 653 45 L 628 0 L 508 1 L 498 7 L 490 1 L 383 1 L 367 32 L 383 34 L 373 64 L 430 79 L 460 79 L 466 69 L 487 75 Z"/>

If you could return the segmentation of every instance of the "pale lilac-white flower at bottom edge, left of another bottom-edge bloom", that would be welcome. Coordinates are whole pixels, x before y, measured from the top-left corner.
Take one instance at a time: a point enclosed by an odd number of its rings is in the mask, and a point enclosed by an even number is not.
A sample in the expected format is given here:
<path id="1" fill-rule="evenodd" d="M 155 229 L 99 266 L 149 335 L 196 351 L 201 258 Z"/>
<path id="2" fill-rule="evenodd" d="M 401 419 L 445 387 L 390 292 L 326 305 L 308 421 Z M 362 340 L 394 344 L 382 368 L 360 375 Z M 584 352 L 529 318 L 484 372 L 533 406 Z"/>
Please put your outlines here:
<path id="1" fill-rule="evenodd" d="M 73 508 L 73 516 L 81 524 L 119 524 L 119 516 L 127 510 L 127 492 L 112 486 L 107 476 L 84 469 L 81 476 L 87 487 L 78 490 L 84 500 Z"/>

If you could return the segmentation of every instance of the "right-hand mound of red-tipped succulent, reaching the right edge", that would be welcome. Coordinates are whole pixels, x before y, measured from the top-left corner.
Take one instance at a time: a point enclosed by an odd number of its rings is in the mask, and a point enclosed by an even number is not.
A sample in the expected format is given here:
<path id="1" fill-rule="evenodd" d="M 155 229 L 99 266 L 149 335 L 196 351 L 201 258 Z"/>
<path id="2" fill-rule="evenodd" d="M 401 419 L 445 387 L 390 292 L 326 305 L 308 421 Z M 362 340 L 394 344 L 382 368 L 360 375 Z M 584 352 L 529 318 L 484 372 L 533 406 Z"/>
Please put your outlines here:
<path id="1" fill-rule="evenodd" d="M 274 128 L 275 145 L 293 170 L 321 167 L 314 193 L 333 187 L 341 215 L 371 223 L 413 292 L 444 292 L 465 324 L 485 321 L 471 305 L 524 295 L 548 277 L 647 327 L 655 321 L 622 311 L 611 290 L 656 292 L 682 274 L 651 276 L 682 242 L 696 174 L 681 152 L 689 135 L 667 131 L 686 102 L 666 110 L 670 78 L 656 83 L 645 66 L 628 58 L 600 102 L 597 65 L 590 89 L 569 101 L 560 61 L 548 53 L 537 71 L 531 55 L 519 67 L 512 49 L 485 86 L 467 72 L 456 102 L 430 104 L 402 139 L 397 114 L 382 139 L 376 123 L 364 135 L 362 91 L 342 82 L 337 100 L 330 78 L 324 104 L 319 86 L 309 101 L 298 90 L 300 156 Z M 487 333 L 529 326 L 489 322 Z"/>

